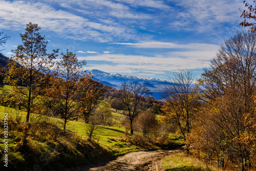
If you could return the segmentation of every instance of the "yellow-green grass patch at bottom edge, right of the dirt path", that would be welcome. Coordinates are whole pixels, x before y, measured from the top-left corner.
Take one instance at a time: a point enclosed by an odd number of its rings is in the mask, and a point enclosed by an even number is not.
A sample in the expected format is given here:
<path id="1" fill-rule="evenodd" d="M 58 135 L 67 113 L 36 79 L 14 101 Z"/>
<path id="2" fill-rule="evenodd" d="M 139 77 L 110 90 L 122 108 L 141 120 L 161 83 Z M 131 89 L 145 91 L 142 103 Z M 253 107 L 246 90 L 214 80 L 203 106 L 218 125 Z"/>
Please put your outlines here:
<path id="1" fill-rule="evenodd" d="M 197 158 L 187 155 L 185 152 L 173 153 L 161 160 L 165 170 L 172 171 L 218 171 L 219 169 L 210 167 Z"/>

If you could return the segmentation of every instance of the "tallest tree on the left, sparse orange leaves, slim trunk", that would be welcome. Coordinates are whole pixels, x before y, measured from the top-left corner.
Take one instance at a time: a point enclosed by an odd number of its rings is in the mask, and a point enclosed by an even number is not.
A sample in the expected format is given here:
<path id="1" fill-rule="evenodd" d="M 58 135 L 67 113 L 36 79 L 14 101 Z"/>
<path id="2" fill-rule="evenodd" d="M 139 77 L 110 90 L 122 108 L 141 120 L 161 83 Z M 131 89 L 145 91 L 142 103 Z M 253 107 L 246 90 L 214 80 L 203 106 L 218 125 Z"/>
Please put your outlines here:
<path id="1" fill-rule="evenodd" d="M 37 24 L 27 24 L 26 32 L 20 34 L 23 45 L 12 51 L 5 75 L 5 83 L 12 86 L 13 97 L 18 98 L 17 103 L 27 110 L 27 122 L 31 110 L 41 102 L 38 97 L 47 91 L 45 88 L 51 75 L 49 68 L 58 52 L 53 50 L 53 53 L 47 53 L 48 41 L 39 34 L 39 30 Z"/>

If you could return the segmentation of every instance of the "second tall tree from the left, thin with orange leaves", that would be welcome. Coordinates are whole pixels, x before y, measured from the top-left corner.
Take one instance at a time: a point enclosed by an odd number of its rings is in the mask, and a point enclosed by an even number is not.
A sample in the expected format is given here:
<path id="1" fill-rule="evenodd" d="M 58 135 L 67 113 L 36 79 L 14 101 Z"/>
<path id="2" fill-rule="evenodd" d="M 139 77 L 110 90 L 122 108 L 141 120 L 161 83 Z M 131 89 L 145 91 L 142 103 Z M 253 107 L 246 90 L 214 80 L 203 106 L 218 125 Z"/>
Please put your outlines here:
<path id="1" fill-rule="evenodd" d="M 64 120 L 65 131 L 68 120 L 79 113 L 78 97 L 87 86 L 86 82 L 80 82 L 79 78 L 86 80 L 90 76 L 82 68 L 86 61 L 79 62 L 76 54 L 68 50 L 66 54 L 61 55 L 61 59 L 56 62 L 55 77 L 52 78 L 49 96 L 56 103 L 55 114 Z"/>

